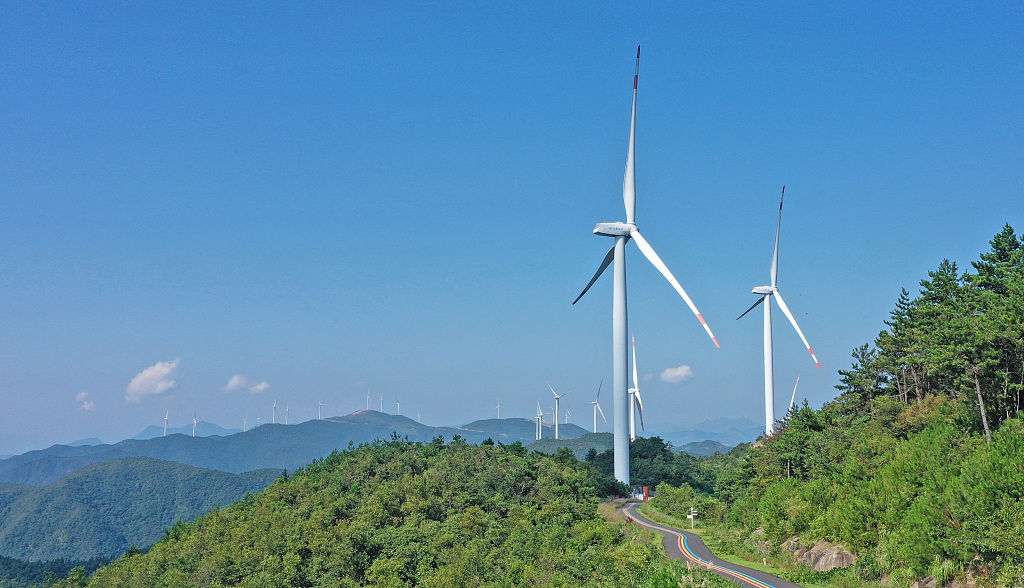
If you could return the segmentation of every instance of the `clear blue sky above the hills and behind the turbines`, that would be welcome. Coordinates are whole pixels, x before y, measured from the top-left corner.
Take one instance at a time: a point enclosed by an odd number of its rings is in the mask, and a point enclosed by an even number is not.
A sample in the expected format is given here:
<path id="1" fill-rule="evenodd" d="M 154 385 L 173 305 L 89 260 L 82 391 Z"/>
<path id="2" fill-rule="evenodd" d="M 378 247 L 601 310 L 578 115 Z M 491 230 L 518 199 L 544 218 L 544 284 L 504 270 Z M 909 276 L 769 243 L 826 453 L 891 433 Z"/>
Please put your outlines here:
<path id="1" fill-rule="evenodd" d="M 777 405 L 803 374 L 819 406 L 900 288 L 1024 229 L 1022 32 L 1020 2 L 3 3 L 0 454 L 367 387 L 458 424 L 548 380 L 589 423 L 610 272 L 570 302 L 625 216 L 637 44 L 637 223 L 722 343 L 631 245 L 648 423 L 762 420 L 735 318 L 783 184 L 823 369 L 776 310 Z"/>

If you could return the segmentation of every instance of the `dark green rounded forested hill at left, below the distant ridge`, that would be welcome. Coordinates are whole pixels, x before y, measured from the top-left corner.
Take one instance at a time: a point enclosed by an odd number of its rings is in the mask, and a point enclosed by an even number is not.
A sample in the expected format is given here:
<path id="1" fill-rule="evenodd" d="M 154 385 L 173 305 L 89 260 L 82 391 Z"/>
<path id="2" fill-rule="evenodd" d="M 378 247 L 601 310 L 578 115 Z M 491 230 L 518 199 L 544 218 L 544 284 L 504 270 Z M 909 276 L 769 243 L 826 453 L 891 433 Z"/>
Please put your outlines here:
<path id="1" fill-rule="evenodd" d="M 281 470 L 243 474 L 146 457 L 89 465 L 43 487 L 0 485 L 0 555 L 22 559 L 112 557 L 156 542 L 177 520 L 191 520 Z"/>

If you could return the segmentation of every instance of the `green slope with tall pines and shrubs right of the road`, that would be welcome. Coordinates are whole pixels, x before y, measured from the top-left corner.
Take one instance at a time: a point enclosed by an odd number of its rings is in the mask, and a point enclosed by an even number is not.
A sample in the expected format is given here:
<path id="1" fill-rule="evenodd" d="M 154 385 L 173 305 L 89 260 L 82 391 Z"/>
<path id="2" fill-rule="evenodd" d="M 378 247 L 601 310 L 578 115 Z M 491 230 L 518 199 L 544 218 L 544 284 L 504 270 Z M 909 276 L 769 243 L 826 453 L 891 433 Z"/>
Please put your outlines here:
<path id="1" fill-rule="evenodd" d="M 837 585 L 943 585 L 970 571 L 1020 586 L 1024 251 L 1009 225 L 991 246 L 976 272 L 944 260 L 918 297 L 903 291 L 888 329 L 840 372 L 834 402 L 795 408 L 731 462 L 701 462 L 711 492 L 658 487 L 653 504 L 695 506 L 735 550 L 778 555 L 795 536 L 842 544 L 857 561 L 819 574 Z"/>

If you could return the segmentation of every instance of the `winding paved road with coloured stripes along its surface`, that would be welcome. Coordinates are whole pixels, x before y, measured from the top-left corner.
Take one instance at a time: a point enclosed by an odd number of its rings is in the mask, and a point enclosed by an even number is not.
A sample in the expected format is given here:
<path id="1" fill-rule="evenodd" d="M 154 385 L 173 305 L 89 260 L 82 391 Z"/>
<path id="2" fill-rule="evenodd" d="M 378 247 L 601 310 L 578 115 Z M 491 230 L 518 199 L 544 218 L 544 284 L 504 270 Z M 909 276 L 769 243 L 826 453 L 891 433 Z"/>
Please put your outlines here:
<path id="1" fill-rule="evenodd" d="M 755 586 L 756 588 L 803 588 L 800 584 L 794 584 L 788 580 L 782 580 L 771 574 L 765 574 L 758 570 L 751 570 L 750 568 L 743 568 L 719 559 L 715 557 L 711 549 L 708 549 L 708 546 L 696 535 L 680 529 L 658 524 L 642 514 L 638 514 L 636 507 L 637 503 L 633 503 L 621 508 L 620 511 L 627 519 L 632 519 L 637 524 L 657 531 L 664 535 L 665 551 L 669 554 L 669 557 L 686 559 L 705 570 L 711 570 L 726 580 L 738 582 L 742 586 Z"/>

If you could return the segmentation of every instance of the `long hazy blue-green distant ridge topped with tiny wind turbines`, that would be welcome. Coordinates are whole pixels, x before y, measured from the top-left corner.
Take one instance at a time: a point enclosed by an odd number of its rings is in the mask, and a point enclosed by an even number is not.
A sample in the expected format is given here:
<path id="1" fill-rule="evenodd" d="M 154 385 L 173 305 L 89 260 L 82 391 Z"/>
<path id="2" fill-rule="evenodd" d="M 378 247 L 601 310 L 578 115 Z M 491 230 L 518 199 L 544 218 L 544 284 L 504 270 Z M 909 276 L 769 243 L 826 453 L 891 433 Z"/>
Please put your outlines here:
<path id="1" fill-rule="evenodd" d="M 518 422 L 526 422 L 528 430 L 522 431 Z M 494 427 L 488 427 L 492 424 Z M 330 455 L 335 449 L 348 447 L 349 443 L 388 439 L 394 434 L 415 442 L 429 442 L 437 436 L 451 440 L 459 435 L 470 443 L 493 438 L 505 444 L 529 443 L 535 437 L 534 425 L 523 419 L 495 419 L 470 425 L 431 427 L 403 416 L 358 411 L 296 425 L 264 424 L 227 436 L 169 434 L 116 445 L 53 446 L 0 461 L 0 484 L 52 484 L 88 464 L 126 457 L 153 457 L 240 473 L 263 468 L 295 469 Z M 567 435 L 585 432 L 575 425 L 567 425 Z"/>

